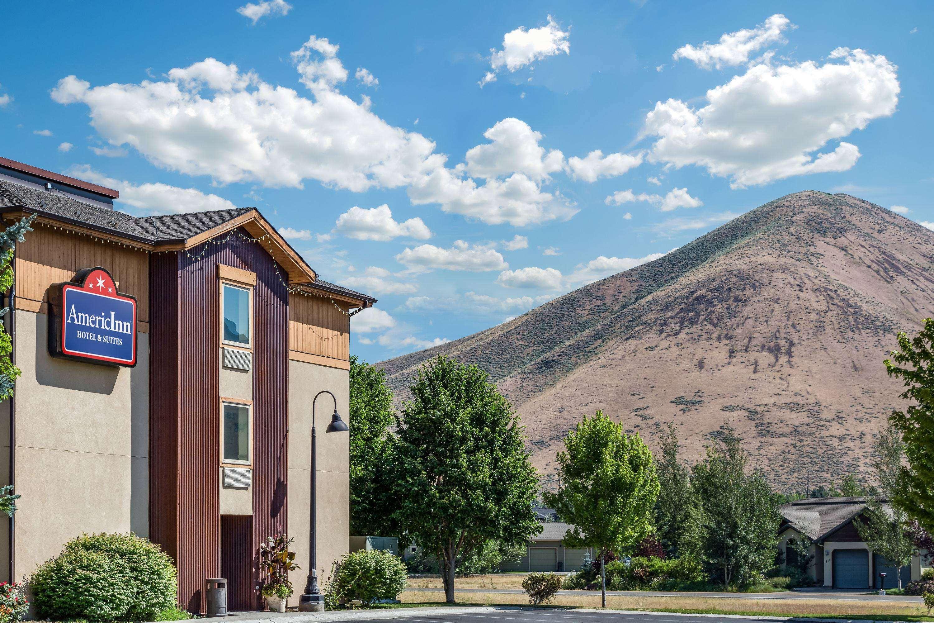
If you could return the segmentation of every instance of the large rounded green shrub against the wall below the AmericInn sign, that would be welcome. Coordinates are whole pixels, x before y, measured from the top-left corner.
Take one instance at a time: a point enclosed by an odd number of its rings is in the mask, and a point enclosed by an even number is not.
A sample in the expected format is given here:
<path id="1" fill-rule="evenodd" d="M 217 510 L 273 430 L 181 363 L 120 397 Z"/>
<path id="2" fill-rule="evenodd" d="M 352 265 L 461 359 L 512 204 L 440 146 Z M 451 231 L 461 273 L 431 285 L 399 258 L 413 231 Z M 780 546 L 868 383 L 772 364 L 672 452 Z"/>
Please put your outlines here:
<path id="1" fill-rule="evenodd" d="M 30 579 L 39 618 L 147 621 L 177 605 L 176 568 L 135 534 L 83 534 Z"/>

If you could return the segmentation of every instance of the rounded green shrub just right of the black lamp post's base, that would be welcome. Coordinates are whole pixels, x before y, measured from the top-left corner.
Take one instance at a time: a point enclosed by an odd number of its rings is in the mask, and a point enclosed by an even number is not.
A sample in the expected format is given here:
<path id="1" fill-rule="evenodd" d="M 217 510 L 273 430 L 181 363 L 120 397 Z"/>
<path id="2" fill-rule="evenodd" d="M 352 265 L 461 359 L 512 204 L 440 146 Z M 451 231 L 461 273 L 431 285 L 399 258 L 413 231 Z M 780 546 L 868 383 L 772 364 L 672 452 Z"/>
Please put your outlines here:
<path id="1" fill-rule="evenodd" d="M 408 579 L 402 559 L 380 549 L 361 549 L 345 555 L 335 573 L 337 594 L 347 600 L 360 600 L 363 605 L 396 599 Z"/>

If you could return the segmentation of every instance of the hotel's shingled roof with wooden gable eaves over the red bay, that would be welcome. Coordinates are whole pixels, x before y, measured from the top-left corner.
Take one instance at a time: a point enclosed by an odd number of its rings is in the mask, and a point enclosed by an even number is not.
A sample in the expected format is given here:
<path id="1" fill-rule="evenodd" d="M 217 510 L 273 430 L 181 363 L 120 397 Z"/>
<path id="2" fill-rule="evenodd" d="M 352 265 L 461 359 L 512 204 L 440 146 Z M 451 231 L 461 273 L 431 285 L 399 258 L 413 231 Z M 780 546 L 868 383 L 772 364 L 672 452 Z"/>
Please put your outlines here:
<path id="1" fill-rule="evenodd" d="M 242 227 L 254 238 L 269 238 L 270 255 L 286 269 L 290 286 L 341 294 L 363 306 L 375 304 L 373 297 L 347 290 L 326 281 L 276 232 L 255 207 L 187 212 L 153 217 L 134 217 L 107 207 L 87 204 L 61 192 L 45 191 L 0 178 L 0 211 L 35 213 L 150 251 L 184 250 Z M 266 247 L 266 245 L 263 245 Z"/>

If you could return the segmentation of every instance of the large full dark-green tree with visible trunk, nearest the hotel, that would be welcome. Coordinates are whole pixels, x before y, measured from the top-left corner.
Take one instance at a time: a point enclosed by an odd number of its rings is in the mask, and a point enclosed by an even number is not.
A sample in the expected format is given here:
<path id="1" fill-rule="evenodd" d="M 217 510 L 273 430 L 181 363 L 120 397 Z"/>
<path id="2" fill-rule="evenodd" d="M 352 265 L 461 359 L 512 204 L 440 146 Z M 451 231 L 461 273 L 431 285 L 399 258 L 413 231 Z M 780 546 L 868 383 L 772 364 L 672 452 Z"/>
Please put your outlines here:
<path id="1" fill-rule="evenodd" d="M 541 531 L 519 418 L 487 378 L 450 358 L 428 361 L 397 421 L 393 517 L 438 556 L 449 603 L 461 559 L 488 541 L 516 545 Z"/>

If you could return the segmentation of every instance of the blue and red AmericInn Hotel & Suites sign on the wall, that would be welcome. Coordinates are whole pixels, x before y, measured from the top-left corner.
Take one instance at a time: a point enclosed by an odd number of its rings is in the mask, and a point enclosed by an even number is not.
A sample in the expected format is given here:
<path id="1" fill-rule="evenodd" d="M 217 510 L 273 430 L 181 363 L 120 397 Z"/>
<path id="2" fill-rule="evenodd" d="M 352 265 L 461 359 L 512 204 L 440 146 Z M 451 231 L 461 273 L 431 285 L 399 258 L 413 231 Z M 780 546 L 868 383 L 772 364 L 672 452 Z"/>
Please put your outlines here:
<path id="1" fill-rule="evenodd" d="M 103 268 L 85 269 L 51 297 L 49 349 L 54 357 L 136 364 L 136 300 L 117 292 Z"/>

